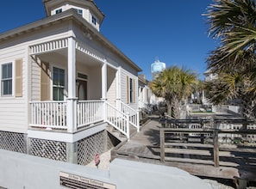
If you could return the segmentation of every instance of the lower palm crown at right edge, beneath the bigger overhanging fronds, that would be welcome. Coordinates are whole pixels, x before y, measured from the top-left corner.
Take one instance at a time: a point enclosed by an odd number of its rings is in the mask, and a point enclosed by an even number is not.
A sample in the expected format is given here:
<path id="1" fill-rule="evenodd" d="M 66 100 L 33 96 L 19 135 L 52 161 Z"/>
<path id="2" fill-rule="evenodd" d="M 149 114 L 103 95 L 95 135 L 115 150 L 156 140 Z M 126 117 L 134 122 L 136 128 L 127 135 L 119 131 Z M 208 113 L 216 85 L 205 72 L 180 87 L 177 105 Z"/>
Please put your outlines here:
<path id="1" fill-rule="evenodd" d="M 244 107 L 242 115 L 244 118 L 255 118 L 256 98 L 250 75 L 241 75 L 238 72 L 222 73 L 217 79 L 204 83 L 208 91 L 208 99 L 214 105 L 235 101 Z"/>

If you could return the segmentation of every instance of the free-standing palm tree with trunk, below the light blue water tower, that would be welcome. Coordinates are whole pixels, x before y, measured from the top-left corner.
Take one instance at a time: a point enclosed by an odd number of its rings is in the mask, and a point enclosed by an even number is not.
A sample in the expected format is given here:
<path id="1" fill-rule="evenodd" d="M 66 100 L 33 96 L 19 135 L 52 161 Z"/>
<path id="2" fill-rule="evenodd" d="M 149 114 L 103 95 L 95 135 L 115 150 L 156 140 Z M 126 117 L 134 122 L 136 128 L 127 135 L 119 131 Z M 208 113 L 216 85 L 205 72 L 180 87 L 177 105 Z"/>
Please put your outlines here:
<path id="1" fill-rule="evenodd" d="M 190 70 L 173 66 L 159 73 L 159 76 L 150 83 L 150 88 L 158 97 L 165 98 L 167 113 L 173 118 L 179 118 L 180 101 L 191 94 L 197 76 Z"/>

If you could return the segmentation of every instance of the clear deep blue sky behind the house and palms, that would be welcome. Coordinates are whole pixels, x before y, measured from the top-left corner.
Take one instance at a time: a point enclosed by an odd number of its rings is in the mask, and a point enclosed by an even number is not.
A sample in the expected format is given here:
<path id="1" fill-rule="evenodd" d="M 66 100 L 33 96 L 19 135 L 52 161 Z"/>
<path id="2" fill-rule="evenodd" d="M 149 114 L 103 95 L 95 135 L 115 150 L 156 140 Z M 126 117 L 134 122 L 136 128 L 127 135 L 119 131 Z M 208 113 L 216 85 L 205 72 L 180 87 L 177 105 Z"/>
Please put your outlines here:
<path id="1" fill-rule="evenodd" d="M 212 0 L 95 0 L 105 15 L 101 33 L 143 70 L 151 80 L 156 58 L 166 67 L 178 65 L 203 79 L 205 59 L 215 49 L 208 37 L 207 6 Z M 15 6 L 14 6 L 15 4 Z M 42 0 L 3 1 L 0 33 L 41 20 Z"/>

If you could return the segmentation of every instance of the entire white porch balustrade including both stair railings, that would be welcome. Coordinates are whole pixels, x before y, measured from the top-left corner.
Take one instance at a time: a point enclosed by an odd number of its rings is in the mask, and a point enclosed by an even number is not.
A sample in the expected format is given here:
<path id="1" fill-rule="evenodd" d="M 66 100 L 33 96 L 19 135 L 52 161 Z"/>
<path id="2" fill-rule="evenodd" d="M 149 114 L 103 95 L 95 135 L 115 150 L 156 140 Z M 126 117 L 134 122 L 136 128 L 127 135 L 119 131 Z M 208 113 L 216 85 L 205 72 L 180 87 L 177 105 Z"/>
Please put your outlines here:
<path id="1" fill-rule="evenodd" d="M 30 126 L 52 129 L 67 129 L 66 101 L 32 101 Z M 78 101 L 77 129 L 100 121 L 107 121 L 129 138 L 129 125 L 140 130 L 139 113 L 121 104 L 121 110 L 107 101 Z"/>

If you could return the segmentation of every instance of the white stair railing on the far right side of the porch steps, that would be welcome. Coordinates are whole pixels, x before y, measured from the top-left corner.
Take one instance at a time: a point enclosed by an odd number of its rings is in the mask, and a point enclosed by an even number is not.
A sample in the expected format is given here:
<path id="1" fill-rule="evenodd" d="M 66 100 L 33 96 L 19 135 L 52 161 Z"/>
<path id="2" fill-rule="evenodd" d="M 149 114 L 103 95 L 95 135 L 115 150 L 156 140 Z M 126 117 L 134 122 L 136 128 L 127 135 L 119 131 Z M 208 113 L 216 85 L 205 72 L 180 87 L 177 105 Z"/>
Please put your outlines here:
<path id="1" fill-rule="evenodd" d="M 139 111 L 134 110 L 132 107 L 129 107 L 127 104 L 121 101 L 121 111 L 122 113 L 128 114 L 129 122 L 131 125 L 137 128 L 137 131 L 140 131 L 140 114 Z"/>

